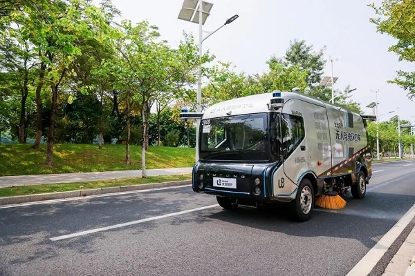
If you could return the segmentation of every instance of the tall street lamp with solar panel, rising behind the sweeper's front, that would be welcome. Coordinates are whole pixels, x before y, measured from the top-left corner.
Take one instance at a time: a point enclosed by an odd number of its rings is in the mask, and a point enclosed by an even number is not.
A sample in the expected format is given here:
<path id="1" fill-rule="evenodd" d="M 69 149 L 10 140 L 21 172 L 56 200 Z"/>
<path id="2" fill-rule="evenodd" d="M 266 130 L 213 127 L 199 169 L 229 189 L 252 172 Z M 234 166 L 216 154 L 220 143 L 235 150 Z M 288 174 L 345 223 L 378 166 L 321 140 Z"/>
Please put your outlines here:
<path id="1" fill-rule="evenodd" d="M 230 19 L 226 20 L 225 23 L 223 23 L 222 26 L 214 30 L 213 32 L 210 32 L 204 39 L 203 39 L 203 29 L 202 26 L 205 24 L 206 19 L 210 15 L 210 10 L 212 9 L 213 4 L 208 3 L 202 0 L 184 0 L 183 6 L 181 8 L 181 11 L 178 14 L 178 19 L 182 19 L 185 21 L 190 21 L 193 23 L 199 23 L 199 57 L 202 56 L 202 43 L 210 37 L 212 34 L 217 32 L 219 29 L 223 28 L 223 26 L 228 25 L 235 21 L 239 15 L 235 14 L 233 17 L 230 17 Z M 197 82 L 197 103 L 196 103 L 196 109 L 197 112 L 202 111 L 202 67 L 199 65 L 198 68 L 198 76 L 199 80 Z M 196 124 L 196 162 L 199 160 L 199 121 Z"/>

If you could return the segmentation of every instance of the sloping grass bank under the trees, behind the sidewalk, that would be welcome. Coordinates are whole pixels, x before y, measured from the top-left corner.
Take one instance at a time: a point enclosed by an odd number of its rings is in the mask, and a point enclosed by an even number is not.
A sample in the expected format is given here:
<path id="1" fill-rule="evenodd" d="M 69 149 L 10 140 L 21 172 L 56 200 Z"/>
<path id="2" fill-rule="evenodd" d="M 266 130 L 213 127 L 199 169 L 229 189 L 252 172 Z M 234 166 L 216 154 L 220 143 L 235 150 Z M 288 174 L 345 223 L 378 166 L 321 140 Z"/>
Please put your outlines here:
<path id="1" fill-rule="evenodd" d="M 141 146 L 130 147 L 131 165 L 125 165 L 124 145 L 56 144 L 53 166 L 45 166 L 46 145 L 33 150 L 31 144 L 0 144 L 0 176 L 41 175 L 63 172 L 140 170 Z M 150 146 L 146 168 L 183 168 L 194 165 L 194 148 Z"/>

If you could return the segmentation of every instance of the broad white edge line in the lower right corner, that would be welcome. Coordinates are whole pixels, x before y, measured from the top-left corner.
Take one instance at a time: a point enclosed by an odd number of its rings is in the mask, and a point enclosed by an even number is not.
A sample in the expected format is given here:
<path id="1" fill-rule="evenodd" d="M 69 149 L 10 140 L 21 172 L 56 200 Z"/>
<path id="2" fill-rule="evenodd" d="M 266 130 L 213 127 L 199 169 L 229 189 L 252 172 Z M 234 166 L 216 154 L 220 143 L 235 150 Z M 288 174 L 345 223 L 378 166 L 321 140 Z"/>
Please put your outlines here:
<path id="1" fill-rule="evenodd" d="M 368 275 L 371 270 L 379 262 L 380 258 L 387 252 L 391 244 L 395 242 L 395 239 L 402 233 L 403 229 L 412 221 L 415 217 L 415 204 L 410 208 L 403 217 L 375 244 L 371 250 L 363 257 L 356 266 L 354 266 L 346 276 L 360 276 Z"/>

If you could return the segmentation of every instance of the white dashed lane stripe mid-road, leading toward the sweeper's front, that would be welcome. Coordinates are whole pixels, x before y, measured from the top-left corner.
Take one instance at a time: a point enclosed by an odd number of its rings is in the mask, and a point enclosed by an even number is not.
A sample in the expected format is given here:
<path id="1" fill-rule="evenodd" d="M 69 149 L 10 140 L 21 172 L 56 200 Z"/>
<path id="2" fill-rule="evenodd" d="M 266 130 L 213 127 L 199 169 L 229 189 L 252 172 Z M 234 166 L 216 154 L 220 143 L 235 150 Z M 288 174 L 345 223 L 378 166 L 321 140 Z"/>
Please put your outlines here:
<path id="1" fill-rule="evenodd" d="M 184 211 L 180 211 L 180 212 L 176 212 L 176 213 L 170 213 L 170 214 L 166 214 L 166 215 L 160 215 L 160 216 L 157 216 L 157 217 L 147 217 L 147 219 L 140 219 L 140 220 L 130 221 L 130 222 L 126 222 L 124 224 L 116 224 L 116 225 L 112 225 L 112 226 L 86 230 L 86 231 L 73 233 L 73 234 L 69 234 L 69 235 L 63 235 L 63 236 L 59 236 L 59 237 L 51 237 L 50 240 L 55 242 L 55 241 L 59 241 L 61 239 L 69 239 L 71 237 L 79 237 L 79 236 L 88 235 L 88 234 L 91 234 L 91 233 L 102 232 L 102 231 L 110 230 L 110 229 L 114 229 L 114 228 L 130 226 L 130 225 L 133 225 L 133 224 L 141 224 L 141 223 L 147 222 L 147 221 L 152 221 L 152 220 L 156 220 L 156 219 L 164 219 L 166 217 L 173 217 L 173 216 L 176 216 L 176 215 L 183 215 L 183 214 L 186 214 L 186 213 L 192 213 L 192 212 L 196 212 L 196 211 L 199 211 L 199 210 L 214 208 L 214 207 L 217 207 L 217 206 L 219 206 L 219 204 L 214 204 L 214 205 L 210 205 L 210 206 L 203 206 L 203 207 L 199 207 L 199 208 L 184 210 Z"/>

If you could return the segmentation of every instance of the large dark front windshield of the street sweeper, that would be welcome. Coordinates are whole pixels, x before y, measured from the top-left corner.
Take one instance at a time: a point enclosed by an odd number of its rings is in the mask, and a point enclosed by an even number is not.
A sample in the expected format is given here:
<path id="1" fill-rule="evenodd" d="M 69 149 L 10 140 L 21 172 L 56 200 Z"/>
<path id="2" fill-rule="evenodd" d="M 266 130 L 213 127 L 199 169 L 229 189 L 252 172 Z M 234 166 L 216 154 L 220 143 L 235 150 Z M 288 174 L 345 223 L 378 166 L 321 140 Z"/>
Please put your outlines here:
<path id="1" fill-rule="evenodd" d="M 238 115 L 201 121 L 201 159 L 270 160 L 268 116 Z"/>

